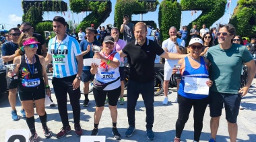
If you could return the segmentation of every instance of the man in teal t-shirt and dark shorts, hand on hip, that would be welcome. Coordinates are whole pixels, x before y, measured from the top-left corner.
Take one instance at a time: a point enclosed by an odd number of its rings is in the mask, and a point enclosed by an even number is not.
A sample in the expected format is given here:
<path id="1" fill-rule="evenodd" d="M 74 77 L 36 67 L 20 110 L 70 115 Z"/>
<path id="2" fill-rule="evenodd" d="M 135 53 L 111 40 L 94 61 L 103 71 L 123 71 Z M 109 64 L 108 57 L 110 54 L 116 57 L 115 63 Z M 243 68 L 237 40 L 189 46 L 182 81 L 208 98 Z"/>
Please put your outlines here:
<path id="1" fill-rule="evenodd" d="M 222 106 L 225 104 L 226 120 L 228 121 L 228 132 L 230 141 L 236 141 L 237 124 L 236 119 L 239 112 L 241 98 L 247 94 L 251 82 L 255 76 L 255 62 L 245 46 L 232 44 L 232 38 L 236 35 L 233 25 L 219 25 L 219 45 L 209 48 L 207 59 L 212 63 L 210 67 L 210 80 L 214 84 L 210 88 L 210 116 L 211 139 L 216 141 Z M 240 88 L 241 68 L 243 64 L 248 66 L 248 82 Z"/>

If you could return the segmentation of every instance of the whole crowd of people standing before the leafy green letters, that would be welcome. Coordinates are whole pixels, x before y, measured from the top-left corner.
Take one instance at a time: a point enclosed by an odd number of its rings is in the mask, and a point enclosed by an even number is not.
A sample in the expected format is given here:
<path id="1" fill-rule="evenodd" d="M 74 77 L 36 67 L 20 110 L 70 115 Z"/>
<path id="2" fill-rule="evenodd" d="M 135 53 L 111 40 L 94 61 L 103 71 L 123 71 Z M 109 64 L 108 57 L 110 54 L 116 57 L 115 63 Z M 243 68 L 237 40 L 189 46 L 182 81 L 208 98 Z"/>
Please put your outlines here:
<path id="1" fill-rule="evenodd" d="M 108 26 L 109 27 L 109 26 Z M 127 84 L 127 118 L 129 127 L 126 137 L 135 132 L 135 106 L 139 94 L 146 106 L 146 137 L 155 139 L 154 131 L 154 60 L 156 55 L 165 58 L 164 64 L 164 101 L 168 104 L 168 82 L 170 76 L 177 73 L 176 65 L 181 65 L 181 79 L 177 80 L 177 102 L 179 113 L 176 122 L 176 135 L 174 142 L 181 141 L 181 135 L 189 113 L 194 109 L 194 141 L 200 140 L 203 129 L 203 117 L 207 104 L 210 104 L 211 139 L 216 141 L 216 134 L 225 106 L 226 120 L 230 141 L 236 141 L 238 127 L 236 123 L 241 98 L 245 96 L 255 76 L 255 38 L 251 39 L 248 47 L 242 46 L 243 39 L 236 35 L 233 25 L 220 24 L 218 29 L 209 31 L 203 24 L 198 31 L 193 25 L 190 33 L 187 27 L 177 31 L 171 26 L 168 33 L 170 38 L 162 42 L 154 42 L 146 38 L 148 35 L 146 23 L 138 22 L 135 25 L 129 22 L 129 16 L 123 15 L 123 24 L 120 27 L 98 31 L 94 24 L 86 28 L 86 33 L 79 29 L 79 33 L 66 33 L 67 23 L 63 17 L 55 16 L 53 31 L 56 36 L 49 40 L 48 49 L 44 39 L 38 33 L 32 32 L 32 25 L 26 21 L 20 29 L 9 30 L 10 42 L 3 44 L 2 58 L 7 64 L 17 64 L 15 70 L 7 72 L 10 78 L 9 103 L 11 117 L 18 121 L 15 109 L 16 94 L 18 92 L 22 102 L 23 117 L 30 129 L 30 141 L 36 141 L 38 134 L 35 129 L 34 104 L 36 113 L 40 117 L 44 136 L 50 138 L 53 134 L 47 127 L 47 115 L 44 109 L 46 95 L 51 96 L 45 65 L 53 64 L 53 90 L 57 98 L 58 111 L 61 118 L 61 131 L 56 137 L 60 139 L 71 131 L 67 114 L 67 94 L 73 111 L 73 128 L 77 136 L 83 135 L 80 125 L 81 98 L 80 82 L 84 83 L 84 106 L 89 106 L 89 82 L 94 84 L 93 94 L 95 100 L 94 128 L 91 135 L 98 135 L 98 125 L 104 111 L 104 104 L 108 103 L 113 123 L 112 134 L 115 139 L 121 139 L 117 130 L 117 103 L 124 104 L 124 58 L 129 59 L 130 73 Z M 159 34 L 158 29 L 158 34 Z M 123 33 L 123 40 L 119 39 Z M 189 41 L 188 34 L 191 36 Z M 102 36 L 103 35 L 103 36 Z M 177 35 L 181 36 L 178 38 Z M 97 36 L 100 41 L 97 40 Z M 157 35 L 156 35 L 157 36 Z M 201 38 L 200 38 L 201 37 Z M 216 38 L 217 37 L 217 38 Z M 218 45 L 214 45 L 218 40 Z M 189 54 L 182 54 L 186 43 L 189 43 Z M 101 51 L 94 51 L 96 46 L 102 46 Z M 249 50 L 247 49 L 249 48 Z M 96 58 L 100 64 L 92 63 L 85 66 L 83 60 Z M 247 66 L 247 84 L 241 88 L 240 77 L 242 66 Z M 18 79 L 15 79 L 18 76 Z M 199 90 L 189 91 L 189 80 L 203 79 L 209 93 L 202 94 Z M 5 76 L 1 81 L 6 82 Z M 107 101 L 106 101 L 107 100 Z"/>

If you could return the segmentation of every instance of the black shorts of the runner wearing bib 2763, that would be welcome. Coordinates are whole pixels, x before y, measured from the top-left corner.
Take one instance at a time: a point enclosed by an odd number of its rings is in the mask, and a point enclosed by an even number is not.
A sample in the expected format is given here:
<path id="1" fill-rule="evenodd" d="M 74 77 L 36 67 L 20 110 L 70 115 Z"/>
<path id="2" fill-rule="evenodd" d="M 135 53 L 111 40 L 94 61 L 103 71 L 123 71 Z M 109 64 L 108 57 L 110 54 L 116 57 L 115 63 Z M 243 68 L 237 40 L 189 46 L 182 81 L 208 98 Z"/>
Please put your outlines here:
<path id="1" fill-rule="evenodd" d="M 97 90 L 93 88 L 95 104 L 97 107 L 104 106 L 106 95 L 108 96 L 108 104 L 111 106 L 116 106 L 119 96 L 121 94 L 121 86 L 115 88 L 114 90 Z"/>

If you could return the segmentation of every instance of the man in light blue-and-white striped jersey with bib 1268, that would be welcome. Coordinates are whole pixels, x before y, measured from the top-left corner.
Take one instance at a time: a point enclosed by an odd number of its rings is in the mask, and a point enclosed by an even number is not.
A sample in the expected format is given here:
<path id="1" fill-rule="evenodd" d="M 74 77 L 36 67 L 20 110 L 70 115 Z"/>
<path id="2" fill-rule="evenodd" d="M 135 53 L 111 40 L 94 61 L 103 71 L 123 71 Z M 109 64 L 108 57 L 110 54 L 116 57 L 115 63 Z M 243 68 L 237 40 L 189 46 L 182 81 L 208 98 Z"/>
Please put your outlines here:
<path id="1" fill-rule="evenodd" d="M 77 136 L 82 135 L 80 126 L 80 80 L 83 69 L 82 52 L 75 38 L 71 38 L 65 31 L 67 23 L 63 17 L 53 18 L 53 31 L 56 37 L 49 41 L 46 64 L 53 61 L 53 89 L 58 102 L 59 115 L 63 127 L 57 133 L 57 138 L 64 137 L 71 131 L 67 116 L 67 93 L 73 109 L 74 129 Z"/>

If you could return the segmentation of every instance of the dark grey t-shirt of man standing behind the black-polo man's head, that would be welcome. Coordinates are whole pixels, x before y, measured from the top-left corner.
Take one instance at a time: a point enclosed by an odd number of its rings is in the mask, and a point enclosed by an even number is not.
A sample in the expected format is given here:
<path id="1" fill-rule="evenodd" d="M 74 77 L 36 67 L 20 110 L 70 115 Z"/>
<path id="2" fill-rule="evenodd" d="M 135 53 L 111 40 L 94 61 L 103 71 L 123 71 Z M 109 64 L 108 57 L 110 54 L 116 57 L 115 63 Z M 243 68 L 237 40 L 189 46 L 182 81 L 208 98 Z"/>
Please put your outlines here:
<path id="1" fill-rule="evenodd" d="M 122 24 L 123 25 L 123 24 Z M 123 27 L 123 40 L 128 44 L 129 42 L 135 40 L 134 33 L 133 33 L 133 23 L 127 23 L 125 24 L 125 27 Z"/>

